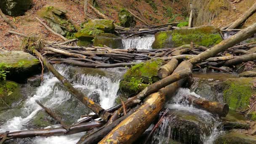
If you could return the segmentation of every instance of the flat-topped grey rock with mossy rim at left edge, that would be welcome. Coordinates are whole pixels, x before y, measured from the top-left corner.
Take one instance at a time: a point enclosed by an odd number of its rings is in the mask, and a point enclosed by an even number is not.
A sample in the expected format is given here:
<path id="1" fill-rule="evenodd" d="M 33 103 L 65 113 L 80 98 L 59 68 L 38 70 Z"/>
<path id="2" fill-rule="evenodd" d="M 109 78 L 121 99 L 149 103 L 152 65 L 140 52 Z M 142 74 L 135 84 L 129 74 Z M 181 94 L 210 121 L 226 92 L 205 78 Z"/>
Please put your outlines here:
<path id="1" fill-rule="evenodd" d="M 8 71 L 7 79 L 22 81 L 27 77 L 40 73 L 40 61 L 24 51 L 0 52 L 0 71 Z"/>

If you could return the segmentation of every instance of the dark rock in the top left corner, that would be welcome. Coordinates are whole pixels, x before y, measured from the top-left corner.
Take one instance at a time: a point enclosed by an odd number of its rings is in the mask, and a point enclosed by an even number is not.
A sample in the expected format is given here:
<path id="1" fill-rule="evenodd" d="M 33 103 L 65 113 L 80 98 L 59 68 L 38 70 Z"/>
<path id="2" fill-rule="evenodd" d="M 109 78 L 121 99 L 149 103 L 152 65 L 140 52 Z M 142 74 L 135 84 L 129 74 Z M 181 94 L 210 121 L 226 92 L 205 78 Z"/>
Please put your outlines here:
<path id="1" fill-rule="evenodd" d="M 0 0 L 0 8 L 6 15 L 20 16 L 30 9 L 32 0 Z"/>

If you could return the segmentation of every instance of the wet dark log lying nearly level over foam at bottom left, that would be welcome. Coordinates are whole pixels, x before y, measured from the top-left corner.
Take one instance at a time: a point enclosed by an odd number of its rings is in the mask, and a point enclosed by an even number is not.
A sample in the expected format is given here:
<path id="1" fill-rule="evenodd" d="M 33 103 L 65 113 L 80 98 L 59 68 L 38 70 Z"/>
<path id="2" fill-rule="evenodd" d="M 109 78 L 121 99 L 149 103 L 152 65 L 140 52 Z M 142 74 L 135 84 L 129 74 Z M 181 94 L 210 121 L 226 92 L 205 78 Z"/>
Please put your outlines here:
<path id="1" fill-rule="evenodd" d="M 67 131 L 65 128 L 44 128 L 35 130 L 25 130 L 25 131 L 15 131 L 8 133 L 8 137 L 15 138 L 27 138 L 35 136 L 62 136 L 70 135 L 75 133 L 80 133 L 83 131 L 90 131 L 93 128 L 99 128 L 103 126 L 106 122 L 104 121 L 91 121 L 88 123 L 82 123 L 80 125 L 71 125 L 70 129 Z M 0 133 L 0 139 L 3 139 L 4 133 Z"/>

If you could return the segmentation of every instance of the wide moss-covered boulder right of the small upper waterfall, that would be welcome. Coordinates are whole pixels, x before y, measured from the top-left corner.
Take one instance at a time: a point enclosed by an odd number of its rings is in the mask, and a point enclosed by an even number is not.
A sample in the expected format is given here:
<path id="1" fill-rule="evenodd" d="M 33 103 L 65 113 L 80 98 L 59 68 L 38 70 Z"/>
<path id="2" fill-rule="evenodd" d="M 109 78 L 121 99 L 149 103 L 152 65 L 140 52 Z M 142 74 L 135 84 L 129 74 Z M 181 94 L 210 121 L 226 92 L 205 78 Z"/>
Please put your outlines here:
<path id="1" fill-rule="evenodd" d="M 219 29 L 213 26 L 181 28 L 157 32 L 152 48 L 174 48 L 191 42 L 208 47 L 220 43 L 221 40 Z"/>

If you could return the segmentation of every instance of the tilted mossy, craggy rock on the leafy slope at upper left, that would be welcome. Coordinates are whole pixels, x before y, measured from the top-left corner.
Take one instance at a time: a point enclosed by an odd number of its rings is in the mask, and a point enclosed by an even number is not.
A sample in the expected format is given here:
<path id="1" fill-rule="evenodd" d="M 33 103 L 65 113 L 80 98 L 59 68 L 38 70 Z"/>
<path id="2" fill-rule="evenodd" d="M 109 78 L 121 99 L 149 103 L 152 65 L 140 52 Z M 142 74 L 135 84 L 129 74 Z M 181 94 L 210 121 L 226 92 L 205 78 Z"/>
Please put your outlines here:
<path id="1" fill-rule="evenodd" d="M 54 32 L 71 37 L 72 33 L 75 32 L 75 27 L 67 20 L 66 13 L 67 11 L 61 8 L 48 6 L 43 7 L 37 14 L 47 21 L 47 24 Z"/>

